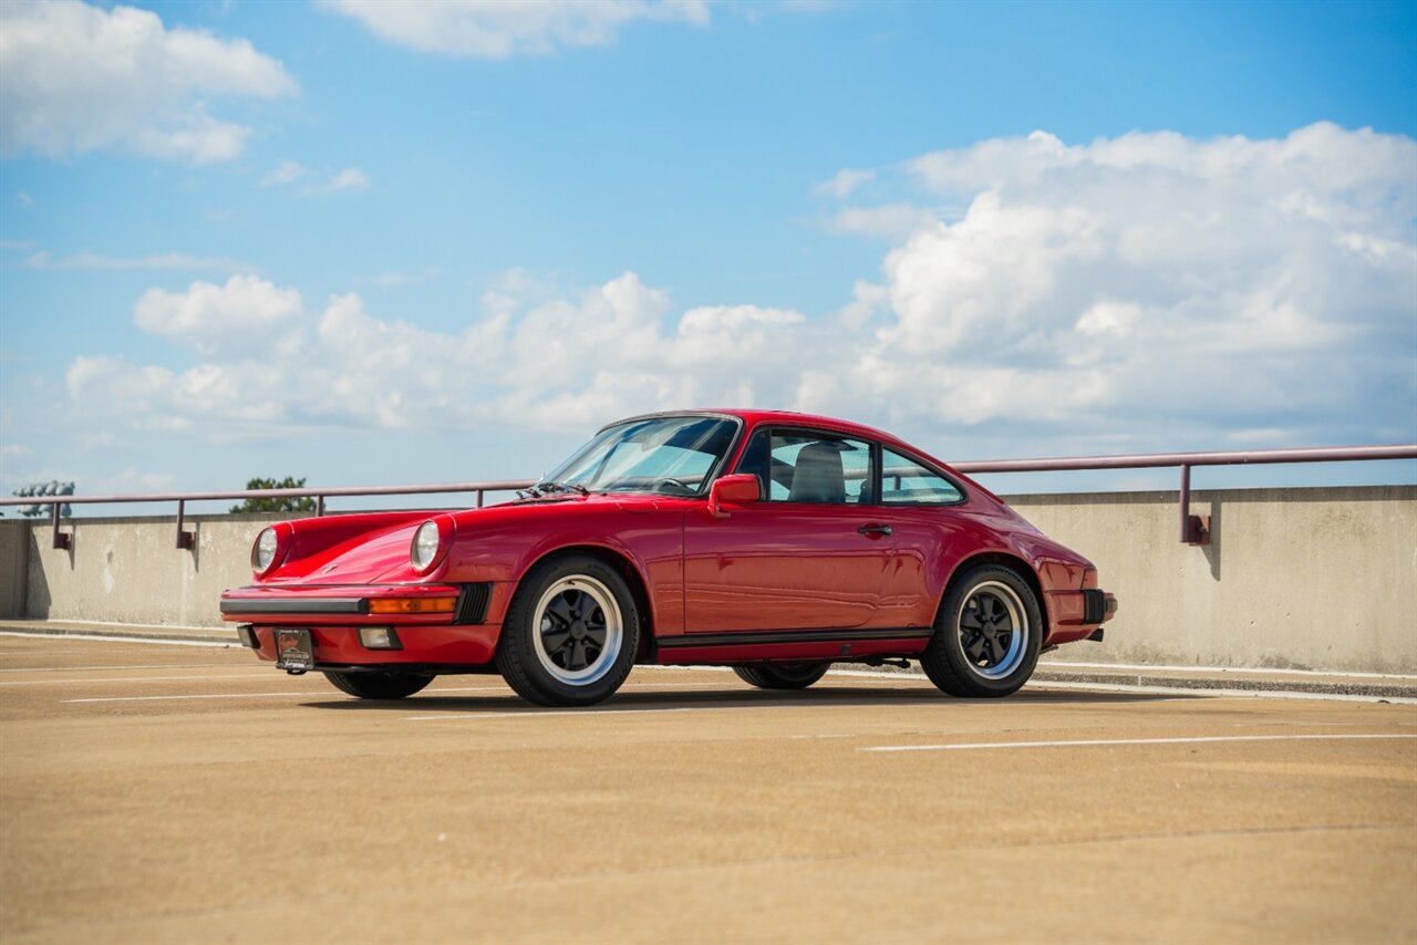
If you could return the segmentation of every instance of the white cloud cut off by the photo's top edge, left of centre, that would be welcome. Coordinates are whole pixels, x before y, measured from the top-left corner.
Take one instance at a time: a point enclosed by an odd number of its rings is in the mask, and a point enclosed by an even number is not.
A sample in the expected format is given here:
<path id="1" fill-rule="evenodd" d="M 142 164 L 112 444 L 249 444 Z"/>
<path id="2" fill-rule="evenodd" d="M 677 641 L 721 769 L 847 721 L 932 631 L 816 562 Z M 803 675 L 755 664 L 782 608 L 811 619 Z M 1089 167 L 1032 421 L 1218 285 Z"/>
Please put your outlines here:
<path id="1" fill-rule="evenodd" d="M 323 0 L 388 43 L 424 52 L 503 60 L 606 45 L 636 20 L 708 23 L 706 0 Z"/>

